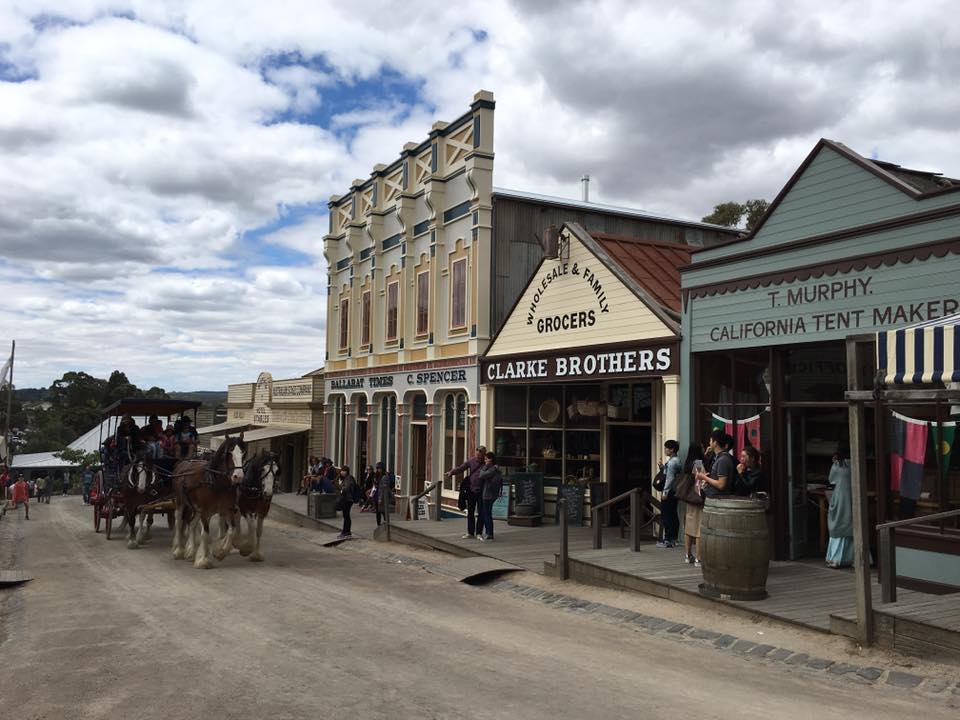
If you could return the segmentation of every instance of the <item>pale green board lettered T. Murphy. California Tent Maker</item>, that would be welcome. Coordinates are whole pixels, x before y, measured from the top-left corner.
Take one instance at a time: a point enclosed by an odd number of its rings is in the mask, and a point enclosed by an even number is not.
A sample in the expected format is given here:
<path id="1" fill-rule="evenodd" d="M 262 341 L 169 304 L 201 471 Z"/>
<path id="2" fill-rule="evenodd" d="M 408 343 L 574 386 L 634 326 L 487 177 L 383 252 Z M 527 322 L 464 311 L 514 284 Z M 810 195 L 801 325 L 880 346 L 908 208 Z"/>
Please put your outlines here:
<path id="1" fill-rule="evenodd" d="M 839 340 L 960 309 L 960 255 L 691 298 L 694 352 Z"/>

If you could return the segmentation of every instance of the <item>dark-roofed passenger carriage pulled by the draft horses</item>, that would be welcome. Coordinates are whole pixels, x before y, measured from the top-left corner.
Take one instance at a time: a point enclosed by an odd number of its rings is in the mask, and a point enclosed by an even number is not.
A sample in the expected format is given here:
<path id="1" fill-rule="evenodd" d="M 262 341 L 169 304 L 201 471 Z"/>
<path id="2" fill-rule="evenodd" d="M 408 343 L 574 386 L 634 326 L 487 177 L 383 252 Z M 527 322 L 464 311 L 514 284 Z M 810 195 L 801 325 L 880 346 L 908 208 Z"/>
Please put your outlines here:
<path id="1" fill-rule="evenodd" d="M 131 437 L 122 434 L 121 422 L 124 417 L 129 417 L 134 424 L 140 420 L 146 424 L 150 417 L 156 416 L 166 417 L 169 424 L 174 416 L 183 416 L 190 411 L 196 420 L 198 407 L 199 402 L 189 400 L 127 398 L 103 411 L 99 445 L 101 468 L 90 489 L 95 532 L 100 532 L 102 525 L 109 540 L 116 518 L 129 523 L 138 514 L 143 514 L 147 521 L 144 533 L 149 532 L 155 514 L 164 514 L 168 525 L 173 527 L 171 475 L 176 458 L 160 456 L 146 444 L 134 446 Z M 132 503 L 136 505 L 131 506 Z M 130 533 L 132 538 L 132 527 Z"/>

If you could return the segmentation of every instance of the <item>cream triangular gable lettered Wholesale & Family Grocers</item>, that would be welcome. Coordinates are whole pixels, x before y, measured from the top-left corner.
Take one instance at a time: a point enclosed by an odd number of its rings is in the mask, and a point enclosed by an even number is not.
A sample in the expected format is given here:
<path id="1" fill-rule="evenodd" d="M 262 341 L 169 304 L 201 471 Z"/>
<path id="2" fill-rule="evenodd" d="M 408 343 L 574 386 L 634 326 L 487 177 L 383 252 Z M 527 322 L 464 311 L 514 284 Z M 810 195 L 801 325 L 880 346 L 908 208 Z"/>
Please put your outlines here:
<path id="1" fill-rule="evenodd" d="M 569 259 L 544 261 L 488 355 L 588 347 L 673 335 L 593 253 L 572 235 L 568 234 L 568 237 L 571 243 Z M 548 281 L 546 287 L 545 280 Z M 578 327 L 554 329 L 558 318 L 561 323 L 575 322 Z M 579 327 L 584 320 L 585 327 Z"/>

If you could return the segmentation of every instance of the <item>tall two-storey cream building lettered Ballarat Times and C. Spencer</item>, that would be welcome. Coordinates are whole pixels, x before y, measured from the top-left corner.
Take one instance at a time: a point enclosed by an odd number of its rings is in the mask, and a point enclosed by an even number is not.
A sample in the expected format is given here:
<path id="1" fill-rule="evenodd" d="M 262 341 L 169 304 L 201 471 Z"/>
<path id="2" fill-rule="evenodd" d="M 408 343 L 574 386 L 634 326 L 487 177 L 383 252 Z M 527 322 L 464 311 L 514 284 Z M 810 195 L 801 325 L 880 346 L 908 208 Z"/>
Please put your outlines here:
<path id="1" fill-rule="evenodd" d="M 327 454 L 355 472 L 383 461 L 402 494 L 419 492 L 477 444 L 493 446 L 480 418 L 478 359 L 540 265 L 545 228 L 570 221 L 693 246 L 731 236 L 494 189 L 494 107 L 491 93 L 478 92 L 468 112 L 435 123 L 329 203 Z M 452 480 L 443 501 L 456 505 Z"/>

